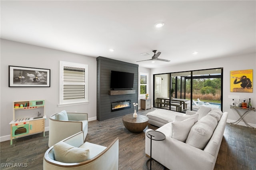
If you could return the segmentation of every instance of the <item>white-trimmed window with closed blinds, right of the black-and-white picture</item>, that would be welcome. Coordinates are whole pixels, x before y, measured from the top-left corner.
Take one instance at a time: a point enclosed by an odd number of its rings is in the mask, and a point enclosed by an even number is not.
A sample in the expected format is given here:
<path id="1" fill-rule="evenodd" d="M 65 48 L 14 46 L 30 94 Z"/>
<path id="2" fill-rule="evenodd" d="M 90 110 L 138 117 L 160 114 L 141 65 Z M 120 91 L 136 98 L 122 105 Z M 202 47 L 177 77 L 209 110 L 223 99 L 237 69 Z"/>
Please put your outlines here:
<path id="1" fill-rule="evenodd" d="M 86 102 L 88 66 L 61 61 L 60 71 L 60 104 Z"/>

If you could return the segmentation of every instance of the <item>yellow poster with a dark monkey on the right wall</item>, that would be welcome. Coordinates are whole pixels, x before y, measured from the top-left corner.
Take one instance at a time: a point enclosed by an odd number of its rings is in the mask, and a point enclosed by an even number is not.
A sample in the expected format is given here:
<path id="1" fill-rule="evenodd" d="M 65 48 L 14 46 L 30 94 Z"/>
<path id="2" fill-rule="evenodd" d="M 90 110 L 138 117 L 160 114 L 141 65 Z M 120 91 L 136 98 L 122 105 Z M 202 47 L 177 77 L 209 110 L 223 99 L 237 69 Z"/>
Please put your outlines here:
<path id="1" fill-rule="evenodd" d="M 230 71 L 230 92 L 252 93 L 252 69 Z"/>

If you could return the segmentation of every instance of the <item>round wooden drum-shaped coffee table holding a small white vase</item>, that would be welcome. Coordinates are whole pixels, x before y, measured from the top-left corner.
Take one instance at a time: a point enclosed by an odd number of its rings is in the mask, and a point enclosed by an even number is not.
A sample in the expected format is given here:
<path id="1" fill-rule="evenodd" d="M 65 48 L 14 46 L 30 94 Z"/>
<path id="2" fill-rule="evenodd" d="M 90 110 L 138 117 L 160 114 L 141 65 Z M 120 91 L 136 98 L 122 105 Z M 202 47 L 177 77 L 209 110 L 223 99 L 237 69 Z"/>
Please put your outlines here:
<path id="1" fill-rule="evenodd" d="M 138 115 L 137 118 L 133 117 L 133 114 L 123 116 L 124 126 L 130 132 L 142 132 L 148 125 L 148 117 L 144 115 Z"/>

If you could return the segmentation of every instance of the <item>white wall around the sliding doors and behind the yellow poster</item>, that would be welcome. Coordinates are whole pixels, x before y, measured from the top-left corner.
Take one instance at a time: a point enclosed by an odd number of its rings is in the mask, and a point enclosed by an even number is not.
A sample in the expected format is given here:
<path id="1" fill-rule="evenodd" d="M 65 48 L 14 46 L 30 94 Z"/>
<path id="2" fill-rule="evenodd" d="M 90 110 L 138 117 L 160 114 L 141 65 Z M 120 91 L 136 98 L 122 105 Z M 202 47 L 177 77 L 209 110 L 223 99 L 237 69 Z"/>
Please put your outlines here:
<path id="1" fill-rule="evenodd" d="M 171 61 L 172 62 L 172 61 Z M 184 63 L 181 65 L 172 65 L 169 67 L 162 67 L 151 69 L 151 87 L 153 87 L 153 74 L 159 73 L 171 73 L 171 72 L 179 72 L 179 71 L 191 71 L 191 70 L 199 70 L 199 69 L 211 69 L 223 67 L 223 111 L 228 112 L 228 122 L 234 122 L 238 120 L 240 117 L 237 113 L 230 109 L 230 103 L 232 99 L 228 98 L 228 95 L 238 95 L 240 99 L 246 98 L 247 103 L 248 99 L 251 98 L 252 107 L 256 107 L 256 53 L 247 54 L 247 55 L 239 55 L 232 57 L 222 57 L 219 59 L 212 59 L 207 61 L 197 61 Z M 230 92 L 230 71 L 234 70 L 244 70 L 244 69 L 253 69 L 253 93 L 232 93 Z M 150 89 L 150 93 L 153 93 L 153 88 Z M 256 127 L 256 112 L 251 112 L 246 115 L 244 118 L 249 125 Z M 244 123 L 240 123 L 240 125 L 244 125 Z"/>

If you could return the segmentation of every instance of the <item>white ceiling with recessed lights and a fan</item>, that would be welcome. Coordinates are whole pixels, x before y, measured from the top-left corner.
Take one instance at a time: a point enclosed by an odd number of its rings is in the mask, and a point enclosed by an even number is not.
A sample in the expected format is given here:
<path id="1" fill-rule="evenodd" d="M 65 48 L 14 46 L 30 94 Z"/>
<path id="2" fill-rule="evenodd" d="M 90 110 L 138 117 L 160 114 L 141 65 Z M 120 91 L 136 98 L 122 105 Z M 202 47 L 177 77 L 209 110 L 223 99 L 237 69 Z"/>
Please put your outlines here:
<path id="1" fill-rule="evenodd" d="M 3 39 L 147 68 L 256 52 L 254 0 L 1 0 L 0 5 Z M 165 25 L 155 28 L 156 22 Z M 136 62 L 150 59 L 154 49 L 171 61 Z M 150 55 L 140 55 L 145 52 Z"/>

